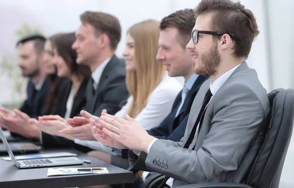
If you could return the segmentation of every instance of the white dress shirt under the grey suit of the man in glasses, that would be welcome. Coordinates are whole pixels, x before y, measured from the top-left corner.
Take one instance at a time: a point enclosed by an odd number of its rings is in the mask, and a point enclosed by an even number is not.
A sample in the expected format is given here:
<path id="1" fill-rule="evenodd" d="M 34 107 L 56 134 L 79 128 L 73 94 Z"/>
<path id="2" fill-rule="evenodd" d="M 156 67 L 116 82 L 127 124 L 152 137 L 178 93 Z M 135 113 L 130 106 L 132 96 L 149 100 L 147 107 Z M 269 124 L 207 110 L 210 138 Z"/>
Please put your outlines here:
<path id="1" fill-rule="evenodd" d="M 217 93 L 217 91 L 221 88 L 222 84 L 230 77 L 230 75 L 240 66 L 241 64 L 233 67 L 232 69 L 230 69 L 229 71 L 225 72 L 224 74 L 222 74 L 218 79 L 216 79 L 214 82 L 210 83 L 210 91 L 212 93 L 212 97 L 213 95 L 215 95 Z M 210 100 L 212 99 L 212 97 L 210 98 Z M 209 101 L 210 102 L 210 101 Z M 209 103 L 208 103 L 209 104 Z M 208 105 L 207 104 L 207 105 Z M 206 106 L 207 107 L 207 106 Z M 196 128 L 196 134 L 198 133 L 198 127 L 199 124 Z M 147 148 L 147 153 L 149 153 L 150 148 L 152 147 L 152 144 L 158 139 L 154 139 L 153 141 L 150 142 L 150 144 L 148 145 Z M 172 188 L 172 183 L 173 183 L 173 178 L 169 178 L 166 182 L 166 184 L 168 186 L 170 186 Z"/>

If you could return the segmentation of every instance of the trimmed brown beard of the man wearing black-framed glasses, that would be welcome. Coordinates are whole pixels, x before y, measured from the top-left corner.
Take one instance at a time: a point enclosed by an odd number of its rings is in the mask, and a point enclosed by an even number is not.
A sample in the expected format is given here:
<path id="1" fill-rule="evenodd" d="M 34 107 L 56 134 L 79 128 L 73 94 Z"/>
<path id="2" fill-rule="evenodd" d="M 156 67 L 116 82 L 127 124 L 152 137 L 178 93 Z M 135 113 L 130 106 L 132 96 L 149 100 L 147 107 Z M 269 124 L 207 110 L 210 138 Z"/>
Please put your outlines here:
<path id="1" fill-rule="evenodd" d="M 216 73 L 216 68 L 221 63 L 217 42 L 214 42 L 210 50 L 199 55 L 198 67 L 194 68 L 196 74 L 211 76 Z"/>

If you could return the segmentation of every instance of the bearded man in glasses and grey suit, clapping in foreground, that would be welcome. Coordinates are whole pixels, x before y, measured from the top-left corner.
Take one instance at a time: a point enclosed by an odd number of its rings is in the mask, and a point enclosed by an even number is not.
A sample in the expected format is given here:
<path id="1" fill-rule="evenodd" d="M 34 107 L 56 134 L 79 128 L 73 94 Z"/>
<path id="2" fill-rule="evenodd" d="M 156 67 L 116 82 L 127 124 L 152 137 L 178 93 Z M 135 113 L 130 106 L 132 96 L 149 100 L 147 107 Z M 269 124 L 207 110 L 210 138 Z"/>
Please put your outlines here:
<path id="1" fill-rule="evenodd" d="M 253 13 L 240 2 L 202 0 L 187 45 L 197 74 L 209 76 L 199 89 L 180 142 L 158 140 L 134 119 L 102 113 L 91 120 L 95 138 L 129 148 L 135 169 L 166 175 L 162 186 L 243 183 L 261 146 L 270 104 L 248 57 L 259 34 Z"/>

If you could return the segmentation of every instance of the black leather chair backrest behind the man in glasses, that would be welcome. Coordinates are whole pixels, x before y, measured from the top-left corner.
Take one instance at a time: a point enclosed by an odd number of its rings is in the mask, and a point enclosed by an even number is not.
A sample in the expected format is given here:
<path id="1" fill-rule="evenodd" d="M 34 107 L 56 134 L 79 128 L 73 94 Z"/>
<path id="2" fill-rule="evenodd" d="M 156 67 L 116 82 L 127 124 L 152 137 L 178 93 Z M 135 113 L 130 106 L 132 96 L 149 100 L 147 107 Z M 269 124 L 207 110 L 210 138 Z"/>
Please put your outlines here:
<path id="1" fill-rule="evenodd" d="M 279 187 L 293 131 L 294 90 L 276 89 L 268 97 L 270 114 L 264 127 L 264 141 L 245 180 L 253 188 Z"/>

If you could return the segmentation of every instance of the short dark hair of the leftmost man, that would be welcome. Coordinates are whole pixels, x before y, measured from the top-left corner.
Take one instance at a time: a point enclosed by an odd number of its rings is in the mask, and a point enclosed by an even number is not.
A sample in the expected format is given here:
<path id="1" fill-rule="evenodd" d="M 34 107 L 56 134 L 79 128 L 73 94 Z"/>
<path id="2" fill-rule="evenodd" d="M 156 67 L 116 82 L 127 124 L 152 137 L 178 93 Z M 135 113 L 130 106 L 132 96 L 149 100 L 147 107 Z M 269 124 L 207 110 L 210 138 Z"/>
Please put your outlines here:
<path id="1" fill-rule="evenodd" d="M 25 44 L 26 42 L 34 41 L 34 48 L 37 54 L 40 54 L 44 51 L 44 45 L 46 42 L 46 38 L 42 35 L 30 35 L 25 38 L 22 38 L 16 43 L 16 47 Z"/>

